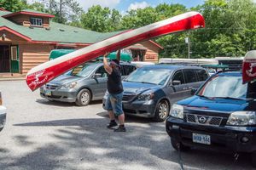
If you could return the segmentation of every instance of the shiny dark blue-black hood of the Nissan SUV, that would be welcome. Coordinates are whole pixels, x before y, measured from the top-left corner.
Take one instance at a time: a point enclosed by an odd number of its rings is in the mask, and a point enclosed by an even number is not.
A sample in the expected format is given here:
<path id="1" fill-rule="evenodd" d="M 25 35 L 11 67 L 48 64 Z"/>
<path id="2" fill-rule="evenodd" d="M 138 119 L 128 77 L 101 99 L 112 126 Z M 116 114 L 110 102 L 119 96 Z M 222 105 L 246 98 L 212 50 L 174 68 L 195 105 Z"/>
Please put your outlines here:
<path id="1" fill-rule="evenodd" d="M 200 96 L 193 96 L 177 102 L 178 105 L 185 105 L 187 109 L 199 109 L 208 111 L 234 112 L 234 111 L 255 111 L 256 101 L 238 99 L 207 99 Z"/>

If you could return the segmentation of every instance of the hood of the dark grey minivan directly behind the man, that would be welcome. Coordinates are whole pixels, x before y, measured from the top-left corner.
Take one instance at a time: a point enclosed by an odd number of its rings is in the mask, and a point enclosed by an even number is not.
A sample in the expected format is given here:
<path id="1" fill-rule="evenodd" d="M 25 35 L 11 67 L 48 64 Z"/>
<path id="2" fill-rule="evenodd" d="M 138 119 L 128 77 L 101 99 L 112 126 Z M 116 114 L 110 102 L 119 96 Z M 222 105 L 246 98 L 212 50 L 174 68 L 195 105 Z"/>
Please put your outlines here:
<path id="1" fill-rule="evenodd" d="M 142 94 L 145 91 L 160 88 L 160 85 L 141 83 L 141 82 L 123 82 L 124 94 Z"/>

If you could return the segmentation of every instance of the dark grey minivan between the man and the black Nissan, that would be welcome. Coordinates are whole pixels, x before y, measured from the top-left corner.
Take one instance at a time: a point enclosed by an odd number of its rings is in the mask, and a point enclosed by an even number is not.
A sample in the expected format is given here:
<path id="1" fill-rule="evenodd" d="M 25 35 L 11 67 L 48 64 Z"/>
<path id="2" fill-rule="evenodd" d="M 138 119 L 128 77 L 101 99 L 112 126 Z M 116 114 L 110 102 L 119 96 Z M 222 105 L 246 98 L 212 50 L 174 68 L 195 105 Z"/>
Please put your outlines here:
<path id="1" fill-rule="evenodd" d="M 152 117 L 163 122 L 170 106 L 189 97 L 209 77 L 201 67 L 183 65 L 144 65 L 123 81 L 123 110 L 126 115 Z M 103 98 L 106 110 L 108 94 Z"/>

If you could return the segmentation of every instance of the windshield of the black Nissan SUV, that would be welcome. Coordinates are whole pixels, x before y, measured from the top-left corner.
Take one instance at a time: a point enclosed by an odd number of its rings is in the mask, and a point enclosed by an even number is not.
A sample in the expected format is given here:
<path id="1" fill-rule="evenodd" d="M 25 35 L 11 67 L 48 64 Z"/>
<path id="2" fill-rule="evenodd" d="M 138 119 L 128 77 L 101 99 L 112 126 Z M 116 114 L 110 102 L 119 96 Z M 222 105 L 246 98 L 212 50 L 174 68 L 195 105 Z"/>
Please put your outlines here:
<path id="1" fill-rule="evenodd" d="M 255 99 L 256 82 L 242 84 L 238 76 L 215 76 L 197 93 L 207 98 Z"/>

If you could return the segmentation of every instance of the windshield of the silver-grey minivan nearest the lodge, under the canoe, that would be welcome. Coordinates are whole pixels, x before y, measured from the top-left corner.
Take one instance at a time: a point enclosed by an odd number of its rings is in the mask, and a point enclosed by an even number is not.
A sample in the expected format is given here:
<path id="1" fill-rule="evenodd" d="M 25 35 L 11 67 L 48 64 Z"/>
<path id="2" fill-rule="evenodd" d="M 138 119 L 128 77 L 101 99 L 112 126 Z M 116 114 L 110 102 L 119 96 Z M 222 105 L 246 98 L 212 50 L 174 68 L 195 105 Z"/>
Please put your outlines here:
<path id="1" fill-rule="evenodd" d="M 74 68 L 72 72 L 70 73 L 71 76 L 75 77 L 88 77 L 91 73 L 96 68 L 96 65 L 79 65 L 78 67 Z"/>

